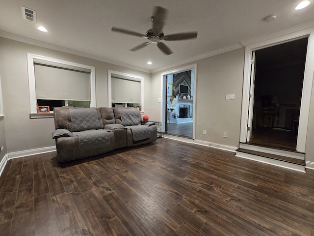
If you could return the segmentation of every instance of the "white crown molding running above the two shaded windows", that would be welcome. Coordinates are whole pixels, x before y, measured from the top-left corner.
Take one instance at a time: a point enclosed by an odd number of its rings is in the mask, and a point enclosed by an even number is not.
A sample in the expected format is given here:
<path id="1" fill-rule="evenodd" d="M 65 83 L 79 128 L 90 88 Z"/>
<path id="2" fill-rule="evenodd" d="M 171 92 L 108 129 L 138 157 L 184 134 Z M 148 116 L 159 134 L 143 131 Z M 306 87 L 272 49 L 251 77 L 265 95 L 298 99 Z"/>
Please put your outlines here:
<path id="1" fill-rule="evenodd" d="M 44 47 L 44 48 L 48 48 L 48 49 L 52 49 L 52 50 L 56 50 L 56 51 L 60 51 L 63 53 L 69 53 L 69 54 L 73 54 L 76 56 L 80 56 L 80 57 L 84 57 L 84 58 L 89 58 L 89 59 L 94 59 L 94 60 L 99 60 L 99 61 L 103 61 L 106 63 L 110 63 L 110 64 L 114 64 L 114 65 L 119 65 L 119 66 L 123 66 L 123 67 L 127 67 L 130 69 L 134 69 L 134 70 L 139 70 L 139 71 L 143 71 L 146 73 L 151 73 L 151 70 L 147 70 L 141 67 L 137 67 L 137 66 L 132 66 L 130 64 L 125 64 L 119 61 L 115 61 L 115 60 L 111 60 L 111 59 L 106 59 L 106 58 L 102 58 L 102 57 L 98 57 L 95 55 L 91 55 L 88 53 L 83 53 L 74 49 L 70 49 L 70 48 L 64 48 L 64 47 L 60 47 L 51 43 L 45 43 L 39 40 L 34 40 L 31 38 L 26 38 L 17 34 L 13 34 L 13 33 L 8 33 L 5 31 L 0 31 L 0 37 L 2 38 L 7 38 L 7 39 L 11 39 L 11 40 L 15 40 L 15 41 L 19 41 L 22 43 L 27 43 L 27 44 L 31 44 L 31 45 L 35 45 L 35 46 L 39 46 L 39 47 Z"/>

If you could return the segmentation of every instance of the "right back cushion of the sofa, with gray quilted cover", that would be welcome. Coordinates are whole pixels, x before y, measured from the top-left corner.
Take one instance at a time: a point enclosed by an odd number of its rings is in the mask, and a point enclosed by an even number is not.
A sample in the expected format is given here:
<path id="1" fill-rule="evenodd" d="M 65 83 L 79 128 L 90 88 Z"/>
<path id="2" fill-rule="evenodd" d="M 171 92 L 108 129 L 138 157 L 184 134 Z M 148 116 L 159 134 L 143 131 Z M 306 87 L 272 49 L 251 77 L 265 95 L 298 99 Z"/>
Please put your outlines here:
<path id="1" fill-rule="evenodd" d="M 141 113 L 136 108 L 113 108 L 116 124 L 124 126 L 138 125 L 142 121 Z"/>

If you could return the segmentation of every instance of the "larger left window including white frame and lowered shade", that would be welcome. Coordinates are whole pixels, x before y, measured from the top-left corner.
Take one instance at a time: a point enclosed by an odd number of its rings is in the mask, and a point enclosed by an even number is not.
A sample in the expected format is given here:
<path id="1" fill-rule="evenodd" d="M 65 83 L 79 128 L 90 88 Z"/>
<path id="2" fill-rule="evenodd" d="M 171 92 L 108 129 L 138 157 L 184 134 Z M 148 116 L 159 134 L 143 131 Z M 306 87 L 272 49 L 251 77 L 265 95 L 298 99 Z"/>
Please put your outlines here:
<path id="1" fill-rule="evenodd" d="M 94 67 L 34 54 L 27 54 L 27 65 L 31 118 L 38 117 L 37 105 L 51 113 L 59 106 L 96 106 Z"/>

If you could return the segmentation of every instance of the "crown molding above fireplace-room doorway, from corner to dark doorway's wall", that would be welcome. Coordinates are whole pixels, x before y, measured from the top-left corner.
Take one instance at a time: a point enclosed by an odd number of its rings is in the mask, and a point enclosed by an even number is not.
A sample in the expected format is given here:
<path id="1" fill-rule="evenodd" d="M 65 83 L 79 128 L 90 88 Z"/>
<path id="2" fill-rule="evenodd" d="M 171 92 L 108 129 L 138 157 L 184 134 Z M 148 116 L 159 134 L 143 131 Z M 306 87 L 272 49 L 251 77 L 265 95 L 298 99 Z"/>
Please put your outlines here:
<path id="1" fill-rule="evenodd" d="M 215 55 L 218 55 L 218 54 L 222 54 L 222 53 L 226 53 L 226 52 L 229 52 L 229 51 L 233 51 L 233 50 L 236 50 L 236 49 L 239 49 L 239 48 L 243 48 L 243 45 L 240 44 L 240 43 L 233 44 L 233 45 L 230 45 L 230 46 L 227 46 L 227 47 L 224 47 L 224 48 L 220 48 L 220 49 L 208 52 L 208 53 L 204 53 L 204 54 L 192 57 L 192 58 L 187 59 L 187 60 L 180 61 L 178 63 L 174 63 L 174 64 L 171 64 L 171 65 L 167 65 L 167 66 L 164 66 L 164 67 L 157 68 L 155 70 L 152 70 L 152 73 L 156 73 L 156 72 L 159 72 L 159 71 L 162 71 L 162 70 L 166 70 L 166 69 L 169 69 L 169 68 L 172 68 L 172 67 L 176 67 L 176 66 L 179 66 L 179 65 L 183 65 L 183 64 L 186 64 L 186 63 L 194 62 L 196 60 L 209 58 L 209 57 L 212 57 L 212 56 L 215 56 Z"/>

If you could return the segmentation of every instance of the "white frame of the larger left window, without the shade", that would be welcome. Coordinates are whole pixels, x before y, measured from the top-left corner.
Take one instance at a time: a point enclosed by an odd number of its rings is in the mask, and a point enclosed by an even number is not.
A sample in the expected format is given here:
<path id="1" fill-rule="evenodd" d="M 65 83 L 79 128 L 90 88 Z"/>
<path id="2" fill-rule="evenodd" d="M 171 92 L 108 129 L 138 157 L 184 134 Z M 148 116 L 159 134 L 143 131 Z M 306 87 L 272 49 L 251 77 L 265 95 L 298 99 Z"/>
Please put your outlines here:
<path id="1" fill-rule="evenodd" d="M 29 86 L 29 105 L 30 105 L 30 118 L 42 118 L 42 117 L 53 117 L 53 111 L 49 114 L 37 113 L 37 100 L 36 100 L 36 84 L 35 84 L 35 67 L 34 59 L 46 60 L 48 62 L 55 62 L 63 64 L 65 68 L 67 66 L 76 66 L 83 69 L 91 70 L 90 73 L 90 107 L 96 107 L 96 78 L 95 78 L 95 67 L 79 64 L 72 61 L 61 60 L 50 58 L 46 56 L 36 55 L 27 53 L 27 69 L 28 69 L 28 86 Z"/>

